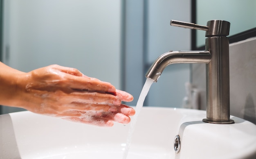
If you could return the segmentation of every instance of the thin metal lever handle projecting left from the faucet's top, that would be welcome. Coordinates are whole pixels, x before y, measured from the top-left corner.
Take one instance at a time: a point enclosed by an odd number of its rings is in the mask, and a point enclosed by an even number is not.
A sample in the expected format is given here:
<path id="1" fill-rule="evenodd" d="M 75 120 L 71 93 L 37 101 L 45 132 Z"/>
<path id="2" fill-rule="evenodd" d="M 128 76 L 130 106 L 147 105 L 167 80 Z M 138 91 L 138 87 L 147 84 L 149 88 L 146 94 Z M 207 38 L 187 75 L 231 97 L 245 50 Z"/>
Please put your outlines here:
<path id="1" fill-rule="evenodd" d="M 182 21 L 178 21 L 178 20 L 171 20 L 170 24 L 171 24 L 171 26 L 179 26 L 182 28 L 198 29 L 198 30 L 204 30 L 204 31 L 209 30 L 209 26 L 202 26 L 202 25 L 189 23 L 189 22 L 182 22 Z"/>

